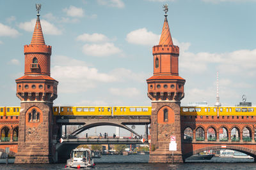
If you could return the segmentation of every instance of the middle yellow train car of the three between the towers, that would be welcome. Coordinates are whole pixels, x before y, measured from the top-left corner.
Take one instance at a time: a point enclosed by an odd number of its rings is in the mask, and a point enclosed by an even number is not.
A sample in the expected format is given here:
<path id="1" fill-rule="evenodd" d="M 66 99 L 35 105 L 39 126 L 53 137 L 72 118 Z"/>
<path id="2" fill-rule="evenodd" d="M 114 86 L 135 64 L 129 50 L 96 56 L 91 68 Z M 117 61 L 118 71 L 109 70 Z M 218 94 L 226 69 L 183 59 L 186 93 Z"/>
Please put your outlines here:
<path id="1" fill-rule="evenodd" d="M 110 106 L 74 106 L 73 114 L 76 116 L 111 116 Z M 61 112 L 60 112 L 61 113 Z"/>

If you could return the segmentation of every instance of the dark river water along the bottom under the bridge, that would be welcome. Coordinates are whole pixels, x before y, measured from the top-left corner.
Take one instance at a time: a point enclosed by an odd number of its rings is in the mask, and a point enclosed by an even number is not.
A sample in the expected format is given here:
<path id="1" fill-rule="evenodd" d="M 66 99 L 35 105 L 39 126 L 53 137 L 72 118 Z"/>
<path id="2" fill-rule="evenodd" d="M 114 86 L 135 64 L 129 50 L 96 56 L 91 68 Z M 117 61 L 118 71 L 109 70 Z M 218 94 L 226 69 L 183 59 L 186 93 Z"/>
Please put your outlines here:
<path id="1" fill-rule="evenodd" d="M 148 164 L 148 155 L 106 155 L 94 159 L 96 169 L 256 169 L 252 159 L 213 157 L 211 160 L 189 160 L 184 164 Z M 65 164 L 0 164 L 2 170 L 55 170 L 65 169 Z"/>

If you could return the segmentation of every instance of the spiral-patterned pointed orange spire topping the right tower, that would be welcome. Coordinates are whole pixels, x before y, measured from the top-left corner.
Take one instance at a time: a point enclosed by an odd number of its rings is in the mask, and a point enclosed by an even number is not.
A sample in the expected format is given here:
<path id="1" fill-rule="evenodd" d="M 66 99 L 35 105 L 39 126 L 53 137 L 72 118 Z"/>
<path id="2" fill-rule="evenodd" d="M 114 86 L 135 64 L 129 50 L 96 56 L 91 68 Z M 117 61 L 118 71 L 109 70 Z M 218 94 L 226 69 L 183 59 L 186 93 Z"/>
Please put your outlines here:
<path id="1" fill-rule="evenodd" d="M 168 12 L 168 4 L 165 4 L 163 8 L 164 8 L 163 11 L 165 12 L 165 15 L 164 15 L 165 18 L 164 18 L 164 25 L 163 25 L 159 45 L 173 45 L 172 36 L 171 36 L 171 32 L 170 32 L 170 28 L 167 20 L 167 14 L 166 14 Z"/>

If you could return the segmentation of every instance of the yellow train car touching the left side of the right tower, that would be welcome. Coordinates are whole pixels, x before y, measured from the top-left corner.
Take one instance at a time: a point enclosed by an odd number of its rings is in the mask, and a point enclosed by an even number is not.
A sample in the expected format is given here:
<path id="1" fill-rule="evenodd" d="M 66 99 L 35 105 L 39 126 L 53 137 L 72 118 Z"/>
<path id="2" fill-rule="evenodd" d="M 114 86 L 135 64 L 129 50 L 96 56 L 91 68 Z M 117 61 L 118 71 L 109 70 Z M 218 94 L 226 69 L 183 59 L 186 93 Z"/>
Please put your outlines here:
<path id="1" fill-rule="evenodd" d="M 113 116 L 150 116 L 151 106 L 114 106 Z"/>

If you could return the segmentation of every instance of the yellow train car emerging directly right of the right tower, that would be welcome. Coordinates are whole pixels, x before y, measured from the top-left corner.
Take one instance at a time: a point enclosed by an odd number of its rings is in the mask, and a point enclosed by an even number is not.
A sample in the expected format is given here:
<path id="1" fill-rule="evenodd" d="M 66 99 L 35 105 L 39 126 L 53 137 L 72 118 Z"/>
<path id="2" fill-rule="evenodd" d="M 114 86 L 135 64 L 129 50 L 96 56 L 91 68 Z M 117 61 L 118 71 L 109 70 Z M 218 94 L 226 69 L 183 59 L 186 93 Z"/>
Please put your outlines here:
<path id="1" fill-rule="evenodd" d="M 217 107 L 191 107 L 182 106 L 180 108 L 180 115 L 192 115 L 192 116 L 215 116 L 218 115 Z"/>

